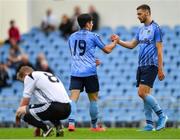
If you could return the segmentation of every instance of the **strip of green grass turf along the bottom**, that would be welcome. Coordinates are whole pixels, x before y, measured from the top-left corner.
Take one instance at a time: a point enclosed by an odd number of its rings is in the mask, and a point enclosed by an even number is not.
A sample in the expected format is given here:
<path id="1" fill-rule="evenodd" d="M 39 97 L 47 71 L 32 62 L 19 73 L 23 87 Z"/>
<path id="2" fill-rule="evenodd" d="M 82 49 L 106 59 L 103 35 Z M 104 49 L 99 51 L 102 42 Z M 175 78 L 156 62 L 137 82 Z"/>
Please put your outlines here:
<path id="1" fill-rule="evenodd" d="M 180 139 L 180 129 L 140 132 L 134 128 L 108 128 L 105 132 L 91 132 L 88 128 L 77 128 L 75 132 L 64 129 L 64 137 L 57 139 Z M 33 128 L 0 128 L 0 139 L 40 139 L 33 136 Z M 46 139 L 56 139 L 55 135 Z"/>

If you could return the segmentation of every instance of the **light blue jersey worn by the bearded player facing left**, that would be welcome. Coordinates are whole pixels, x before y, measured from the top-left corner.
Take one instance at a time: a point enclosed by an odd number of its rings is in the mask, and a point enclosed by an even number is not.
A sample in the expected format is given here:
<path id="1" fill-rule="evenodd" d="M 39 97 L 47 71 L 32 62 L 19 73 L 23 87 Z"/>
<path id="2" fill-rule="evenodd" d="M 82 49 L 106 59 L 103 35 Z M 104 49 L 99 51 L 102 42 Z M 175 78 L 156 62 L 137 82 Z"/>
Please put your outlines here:
<path id="1" fill-rule="evenodd" d="M 135 39 L 139 42 L 139 66 L 158 66 L 156 43 L 162 42 L 162 32 L 154 21 L 150 25 L 142 26 Z"/>

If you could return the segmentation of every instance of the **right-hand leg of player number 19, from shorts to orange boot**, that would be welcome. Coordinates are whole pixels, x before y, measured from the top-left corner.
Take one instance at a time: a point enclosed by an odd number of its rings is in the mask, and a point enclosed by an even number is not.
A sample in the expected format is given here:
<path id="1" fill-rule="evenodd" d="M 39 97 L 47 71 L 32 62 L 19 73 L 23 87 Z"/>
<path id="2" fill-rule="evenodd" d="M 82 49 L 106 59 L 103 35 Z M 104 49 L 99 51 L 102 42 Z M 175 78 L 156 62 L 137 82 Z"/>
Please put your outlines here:
<path id="1" fill-rule="evenodd" d="M 89 76 L 85 78 L 85 88 L 88 93 L 88 98 L 90 101 L 89 113 L 91 117 L 91 125 L 94 131 L 104 131 L 105 129 L 98 126 L 98 91 L 99 91 L 99 81 L 97 75 Z"/>

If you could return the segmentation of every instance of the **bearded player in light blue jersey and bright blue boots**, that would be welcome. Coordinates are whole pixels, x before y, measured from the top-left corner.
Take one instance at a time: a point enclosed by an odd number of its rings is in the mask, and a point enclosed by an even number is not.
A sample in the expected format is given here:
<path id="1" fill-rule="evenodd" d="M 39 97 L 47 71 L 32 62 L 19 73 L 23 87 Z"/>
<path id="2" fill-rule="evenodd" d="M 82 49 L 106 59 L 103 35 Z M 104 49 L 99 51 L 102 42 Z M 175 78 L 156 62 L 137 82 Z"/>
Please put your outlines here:
<path id="1" fill-rule="evenodd" d="M 151 19 L 151 9 L 148 5 L 143 4 L 137 7 L 137 16 L 140 22 L 144 23 L 144 26 L 138 30 L 135 39 L 126 42 L 119 39 L 117 43 L 129 49 L 133 49 L 137 45 L 140 47 L 136 79 L 138 94 L 144 101 L 147 125 L 143 130 L 154 130 L 153 111 L 159 118 L 156 130 L 161 130 L 165 128 L 168 117 L 163 113 L 150 91 L 157 75 L 160 81 L 165 78 L 163 72 L 162 33 L 159 25 Z M 112 40 L 117 38 L 117 35 L 111 36 Z"/>

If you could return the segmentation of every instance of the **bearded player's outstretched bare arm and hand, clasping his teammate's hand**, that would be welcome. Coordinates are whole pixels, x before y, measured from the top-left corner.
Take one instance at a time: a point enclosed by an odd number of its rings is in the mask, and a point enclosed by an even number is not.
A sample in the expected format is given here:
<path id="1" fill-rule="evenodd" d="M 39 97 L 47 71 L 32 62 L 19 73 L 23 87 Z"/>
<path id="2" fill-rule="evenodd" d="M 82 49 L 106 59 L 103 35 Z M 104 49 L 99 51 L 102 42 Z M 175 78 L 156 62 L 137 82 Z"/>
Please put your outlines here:
<path id="1" fill-rule="evenodd" d="M 137 45 L 138 45 L 138 41 L 133 39 L 132 41 L 122 41 L 121 39 L 119 39 L 119 36 L 116 35 L 116 34 L 113 34 L 111 36 L 111 40 L 117 40 L 117 44 L 125 47 L 125 48 L 128 48 L 128 49 L 133 49 L 135 48 Z"/>

